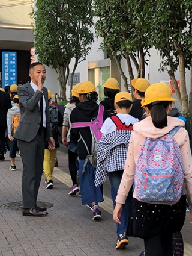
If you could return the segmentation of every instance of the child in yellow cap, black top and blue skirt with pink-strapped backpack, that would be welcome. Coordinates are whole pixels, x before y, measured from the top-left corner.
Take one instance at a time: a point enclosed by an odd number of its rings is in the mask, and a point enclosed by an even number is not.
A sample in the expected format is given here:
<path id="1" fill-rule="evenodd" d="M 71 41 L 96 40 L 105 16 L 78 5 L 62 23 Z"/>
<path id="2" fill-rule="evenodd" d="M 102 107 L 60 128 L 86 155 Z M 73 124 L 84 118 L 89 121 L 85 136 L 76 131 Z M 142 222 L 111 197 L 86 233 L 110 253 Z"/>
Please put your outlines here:
<path id="1" fill-rule="evenodd" d="M 101 219 L 101 210 L 98 203 L 103 202 L 101 187 L 95 187 L 95 166 L 91 163 L 89 156 L 92 155 L 92 143 L 95 141 L 91 133 L 90 125 L 98 116 L 101 116 L 102 123 L 106 119 L 106 112 L 103 106 L 96 103 L 98 99 L 95 86 L 91 81 L 83 81 L 77 88 L 80 103 L 73 109 L 70 115 L 72 125 L 70 142 L 77 145 L 79 157 L 79 181 L 82 204 L 92 210 L 93 220 Z M 101 113 L 101 114 L 100 114 Z M 74 124 L 82 125 L 80 128 L 73 127 Z"/>

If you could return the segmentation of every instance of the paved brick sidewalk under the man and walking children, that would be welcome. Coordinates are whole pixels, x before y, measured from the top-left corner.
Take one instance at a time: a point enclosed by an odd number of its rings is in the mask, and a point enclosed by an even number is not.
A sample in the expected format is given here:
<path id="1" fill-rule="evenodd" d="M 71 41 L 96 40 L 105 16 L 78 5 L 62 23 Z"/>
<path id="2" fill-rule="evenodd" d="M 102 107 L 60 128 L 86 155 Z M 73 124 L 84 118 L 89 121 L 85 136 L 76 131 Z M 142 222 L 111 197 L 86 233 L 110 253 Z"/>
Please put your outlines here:
<path id="1" fill-rule="evenodd" d="M 101 204 L 102 220 L 92 220 L 92 212 L 82 206 L 79 196 L 68 196 L 67 155 L 58 152 L 59 167 L 54 171 L 54 187 L 46 189 L 44 175 L 41 180 L 38 201 L 49 202 L 47 217 L 23 217 L 19 207 L 22 202 L 21 158 L 16 158 L 17 170 L 8 170 L 8 154 L 0 162 L 0 255 L 1 256 L 139 256 L 143 251 L 141 239 L 130 238 L 130 244 L 123 251 L 115 250 L 116 225 L 112 220 L 110 186 L 106 182 L 104 195 L 106 203 Z M 57 178 L 56 178 L 57 177 Z M 17 202 L 16 205 L 13 203 Z M 11 204 L 12 208 L 8 208 Z M 15 208 L 14 208 L 14 207 Z M 184 239 L 186 256 L 192 254 L 192 226 L 186 220 Z M 187 251 L 188 250 L 188 251 Z"/>

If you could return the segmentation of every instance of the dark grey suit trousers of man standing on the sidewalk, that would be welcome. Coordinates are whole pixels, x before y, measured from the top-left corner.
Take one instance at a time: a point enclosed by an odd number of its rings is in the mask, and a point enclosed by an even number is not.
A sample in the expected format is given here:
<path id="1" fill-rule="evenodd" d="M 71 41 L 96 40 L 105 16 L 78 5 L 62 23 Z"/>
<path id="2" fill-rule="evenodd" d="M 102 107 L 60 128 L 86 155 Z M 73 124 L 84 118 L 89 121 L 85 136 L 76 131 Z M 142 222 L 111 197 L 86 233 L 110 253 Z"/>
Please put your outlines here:
<path id="1" fill-rule="evenodd" d="M 43 173 L 44 131 L 31 142 L 17 140 L 23 163 L 23 208 L 34 208 Z"/>

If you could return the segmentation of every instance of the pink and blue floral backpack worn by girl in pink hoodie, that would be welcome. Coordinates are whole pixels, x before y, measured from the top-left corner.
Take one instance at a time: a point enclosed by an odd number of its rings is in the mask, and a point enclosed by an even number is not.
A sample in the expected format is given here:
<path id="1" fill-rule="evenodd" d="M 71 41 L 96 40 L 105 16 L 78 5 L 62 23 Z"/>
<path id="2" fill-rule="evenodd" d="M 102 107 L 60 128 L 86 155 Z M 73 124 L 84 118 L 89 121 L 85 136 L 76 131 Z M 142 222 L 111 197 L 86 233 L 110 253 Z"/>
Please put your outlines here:
<path id="1" fill-rule="evenodd" d="M 179 128 L 158 139 L 146 138 L 142 143 L 134 177 L 137 200 L 167 205 L 179 201 L 184 173 L 181 151 L 173 137 Z"/>

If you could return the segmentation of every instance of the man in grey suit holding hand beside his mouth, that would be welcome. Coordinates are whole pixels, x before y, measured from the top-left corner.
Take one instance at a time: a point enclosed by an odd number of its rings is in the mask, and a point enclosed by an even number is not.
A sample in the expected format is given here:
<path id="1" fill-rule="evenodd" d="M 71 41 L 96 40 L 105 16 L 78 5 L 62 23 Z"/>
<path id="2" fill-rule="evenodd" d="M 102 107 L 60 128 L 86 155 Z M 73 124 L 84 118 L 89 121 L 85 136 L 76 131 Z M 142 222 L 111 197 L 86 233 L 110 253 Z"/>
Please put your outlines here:
<path id="1" fill-rule="evenodd" d="M 46 70 L 36 62 L 29 67 L 31 82 L 18 87 L 20 122 L 14 138 L 23 162 L 22 195 L 23 216 L 47 216 L 47 209 L 38 207 L 37 195 L 43 173 L 44 140 L 49 149 L 55 148 L 50 130 L 50 115 L 47 89 L 43 87 Z"/>

